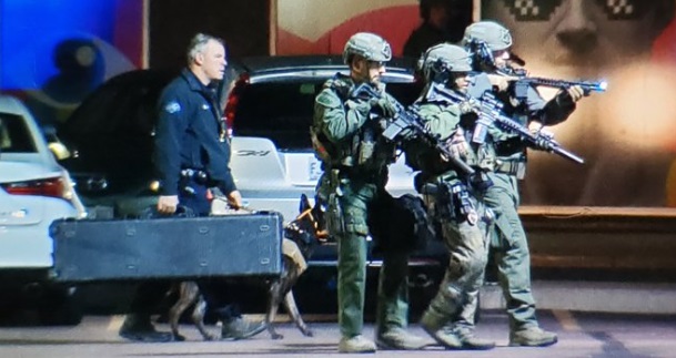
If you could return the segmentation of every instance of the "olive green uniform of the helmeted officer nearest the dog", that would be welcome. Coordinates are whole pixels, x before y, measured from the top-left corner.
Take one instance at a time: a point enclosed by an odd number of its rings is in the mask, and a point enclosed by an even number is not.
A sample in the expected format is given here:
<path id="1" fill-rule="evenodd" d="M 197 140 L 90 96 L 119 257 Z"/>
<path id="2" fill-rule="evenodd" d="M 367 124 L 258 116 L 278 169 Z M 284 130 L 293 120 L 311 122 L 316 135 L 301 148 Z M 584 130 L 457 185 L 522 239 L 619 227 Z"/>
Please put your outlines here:
<path id="1" fill-rule="evenodd" d="M 370 205 L 385 192 L 395 147 L 379 135 L 367 100 L 353 99 L 355 83 L 336 75 L 317 95 L 313 143 L 324 174 L 317 195 L 329 203 L 330 235 L 339 245 L 339 326 L 343 337 L 362 334 Z M 387 95 L 384 93 L 383 95 Z M 377 331 L 407 326 L 406 253 L 385 253 L 377 294 Z"/>

